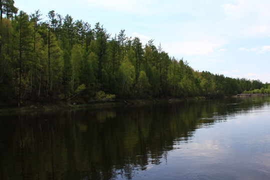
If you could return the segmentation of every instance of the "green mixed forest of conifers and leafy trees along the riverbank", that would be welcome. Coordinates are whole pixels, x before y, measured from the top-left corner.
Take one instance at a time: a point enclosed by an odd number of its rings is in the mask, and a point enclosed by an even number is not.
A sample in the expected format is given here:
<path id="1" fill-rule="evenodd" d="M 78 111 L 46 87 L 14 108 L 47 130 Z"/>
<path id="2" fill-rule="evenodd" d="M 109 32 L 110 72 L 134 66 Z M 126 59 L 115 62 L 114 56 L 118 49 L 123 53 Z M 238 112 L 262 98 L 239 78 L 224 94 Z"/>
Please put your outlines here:
<path id="1" fill-rule="evenodd" d="M 269 93 L 259 79 L 196 71 L 162 50 L 142 44 L 124 29 L 110 34 L 54 10 L 18 11 L 0 0 L 0 104 L 26 101 L 87 103 L 93 99 L 216 98 L 238 93 Z"/>

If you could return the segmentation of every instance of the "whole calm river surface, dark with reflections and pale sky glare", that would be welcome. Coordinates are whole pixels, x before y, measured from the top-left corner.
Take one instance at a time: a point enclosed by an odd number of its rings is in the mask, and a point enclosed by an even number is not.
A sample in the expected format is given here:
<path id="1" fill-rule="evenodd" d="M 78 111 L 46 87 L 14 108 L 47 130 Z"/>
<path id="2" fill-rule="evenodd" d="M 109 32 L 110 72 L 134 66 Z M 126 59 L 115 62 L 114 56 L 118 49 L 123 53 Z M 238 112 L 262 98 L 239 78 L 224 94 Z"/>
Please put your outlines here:
<path id="1" fill-rule="evenodd" d="M 270 98 L 2 114 L 0 179 L 270 179 Z"/>

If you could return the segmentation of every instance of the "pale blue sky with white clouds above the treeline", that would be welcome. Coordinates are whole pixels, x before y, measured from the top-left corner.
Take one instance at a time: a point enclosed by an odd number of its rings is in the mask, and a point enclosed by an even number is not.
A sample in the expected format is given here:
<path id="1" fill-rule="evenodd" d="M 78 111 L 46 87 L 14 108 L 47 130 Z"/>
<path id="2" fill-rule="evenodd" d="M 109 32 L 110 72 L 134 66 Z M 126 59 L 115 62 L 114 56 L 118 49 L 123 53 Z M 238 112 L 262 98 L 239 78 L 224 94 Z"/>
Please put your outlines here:
<path id="1" fill-rule="evenodd" d="M 270 0 L 14 0 L 46 20 L 54 10 L 111 37 L 125 29 L 198 71 L 270 82 Z"/>

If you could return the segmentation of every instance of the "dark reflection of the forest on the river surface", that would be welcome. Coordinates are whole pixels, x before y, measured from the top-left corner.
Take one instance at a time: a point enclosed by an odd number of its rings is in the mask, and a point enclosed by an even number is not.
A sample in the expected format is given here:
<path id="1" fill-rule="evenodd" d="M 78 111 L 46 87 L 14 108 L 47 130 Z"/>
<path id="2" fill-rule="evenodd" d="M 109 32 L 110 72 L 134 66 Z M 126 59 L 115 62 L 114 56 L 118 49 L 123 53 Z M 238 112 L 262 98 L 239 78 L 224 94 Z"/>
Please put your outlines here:
<path id="1" fill-rule="evenodd" d="M 255 100 L 255 101 L 254 101 Z M 195 129 L 269 98 L 1 115 L 0 179 L 131 179 Z"/>

